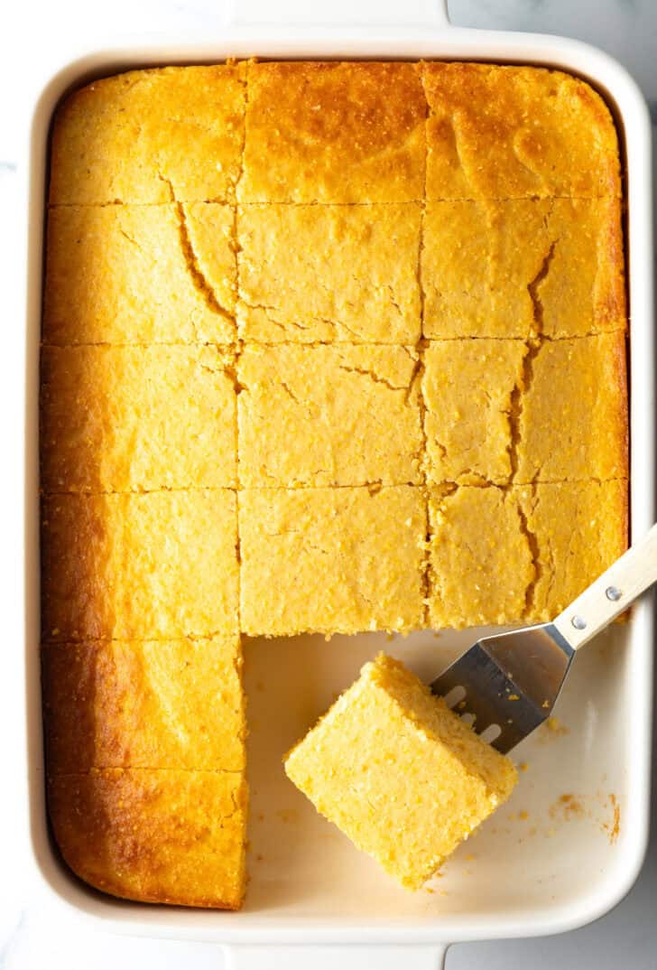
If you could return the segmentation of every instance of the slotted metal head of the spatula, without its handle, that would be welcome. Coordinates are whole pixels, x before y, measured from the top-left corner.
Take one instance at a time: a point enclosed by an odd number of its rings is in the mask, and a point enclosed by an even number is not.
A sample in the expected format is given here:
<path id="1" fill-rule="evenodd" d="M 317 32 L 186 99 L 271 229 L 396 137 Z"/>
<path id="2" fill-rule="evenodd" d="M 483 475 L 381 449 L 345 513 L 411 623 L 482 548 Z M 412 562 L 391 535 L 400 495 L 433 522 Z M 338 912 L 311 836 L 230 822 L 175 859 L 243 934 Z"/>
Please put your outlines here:
<path id="1" fill-rule="evenodd" d="M 506 754 L 549 717 L 574 656 L 551 623 L 497 633 L 478 640 L 431 690 L 448 703 L 452 694 L 458 713 L 474 715 L 478 734 L 498 726 L 490 744 Z"/>

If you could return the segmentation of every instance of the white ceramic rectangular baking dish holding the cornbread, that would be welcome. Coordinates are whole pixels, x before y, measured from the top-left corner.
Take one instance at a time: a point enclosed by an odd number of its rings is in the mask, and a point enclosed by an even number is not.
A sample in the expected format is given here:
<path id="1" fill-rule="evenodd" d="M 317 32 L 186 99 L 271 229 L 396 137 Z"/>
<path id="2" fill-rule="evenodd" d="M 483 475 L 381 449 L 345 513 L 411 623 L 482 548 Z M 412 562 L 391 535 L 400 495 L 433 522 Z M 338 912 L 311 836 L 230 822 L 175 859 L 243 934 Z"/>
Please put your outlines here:
<path id="1" fill-rule="evenodd" d="M 293 4 L 294 6 L 294 4 Z M 293 18 L 308 16 L 297 4 Z M 343 4 L 347 9 L 347 5 Z M 244 16 L 244 9 L 238 10 Z M 357 8 L 356 14 L 358 15 Z M 363 15 L 363 11 L 360 11 Z M 607 97 L 626 153 L 631 307 L 632 531 L 654 518 L 654 377 L 649 125 L 638 88 L 609 56 L 574 41 L 529 34 L 452 28 L 445 11 L 424 0 L 404 5 L 397 22 L 372 26 L 317 23 L 257 26 L 233 18 L 208 41 L 171 37 L 95 51 L 67 65 L 47 84 L 34 113 L 29 185 L 26 314 L 25 696 L 30 845 L 36 869 L 53 896 L 117 930 L 216 941 L 242 965 L 269 947 L 266 966 L 337 958 L 387 967 L 438 965 L 448 943 L 553 933 L 594 920 L 630 888 L 643 857 L 648 812 L 650 685 L 653 617 L 644 598 L 625 626 L 582 651 L 560 702 L 569 733 L 544 731 L 516 750 L 529 768 L 508 809 L 458 851 L 433 894 L 411 895 L 380 874 L 321 820 L 284 779 L 280 756 L 333 693 L 356 675 L 382 644 L 375 634 L 347 640 L 301 637 L 246 647 L 249 694 L 251 858 L 241 913 L 123 902 L 83 886 L 62 864 L 47 831 L 39 684 L 38 349 L 42 289 L 47 131 L 53 108 L 70 87 L 128 67 L 212 62 L 228 56 L 457 58 L 545 64 L 591 81 Z M 277 16 L 279 16 L 277 6 Z M 322 19 L 317 6 L 315 21 Z M 352 12 L 352 18 L 354 12 Z M 405 23 L 398 22 L 403 16 Z M 383 642 L 429 677 L 478 631 L 428 633 Z M 265 690 L 261 687 L 265 686 Z M 559 801 L 562 794 L 574 798 Z M 614 838 L 613 803 L 620 815 Z M 551 806 L 551 812 L 549 807 Z M 527 813 L 518 818 L 517 813 Z M 516 817 L 510 819 L 510 815 Z M 607 826 L 607 828 L 605 827 Z M 535 827 L 536 832 L 531 834 Z M 470 855 L 475 858 L 471 859 Z M 291 946 L 296 950 L 290 950 Z M 349 945 L 353 945 L 350 949 Z M 358 947 L 356 945 L 359 945 Z M 396 946 L 407 949 L 400 955 Z M 274 949 L 271 949 L 274 948 Z M 285 949 L 280 949 L 285 948 Z M 299 949 L 300 948 L 300 949 Z M 385 949 L 383 949 L 385 948 Z"/>

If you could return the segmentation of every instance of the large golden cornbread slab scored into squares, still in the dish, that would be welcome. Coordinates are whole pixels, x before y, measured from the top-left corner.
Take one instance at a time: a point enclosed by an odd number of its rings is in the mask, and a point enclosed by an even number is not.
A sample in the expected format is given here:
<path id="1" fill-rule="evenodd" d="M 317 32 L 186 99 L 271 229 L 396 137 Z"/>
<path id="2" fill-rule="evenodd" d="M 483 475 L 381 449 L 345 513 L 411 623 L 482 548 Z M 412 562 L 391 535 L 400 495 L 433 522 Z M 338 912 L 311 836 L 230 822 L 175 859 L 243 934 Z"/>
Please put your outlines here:
<path id="1" fill-rule="evenodd" d="M 545 619 L 625 546 L 616 134 L 556 71 L 229 62 L 74 92 L 50 162 L 53 830 L 235 908 L 240 634 Z"/>

